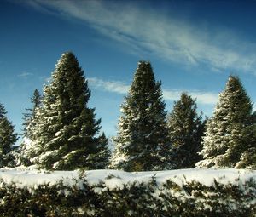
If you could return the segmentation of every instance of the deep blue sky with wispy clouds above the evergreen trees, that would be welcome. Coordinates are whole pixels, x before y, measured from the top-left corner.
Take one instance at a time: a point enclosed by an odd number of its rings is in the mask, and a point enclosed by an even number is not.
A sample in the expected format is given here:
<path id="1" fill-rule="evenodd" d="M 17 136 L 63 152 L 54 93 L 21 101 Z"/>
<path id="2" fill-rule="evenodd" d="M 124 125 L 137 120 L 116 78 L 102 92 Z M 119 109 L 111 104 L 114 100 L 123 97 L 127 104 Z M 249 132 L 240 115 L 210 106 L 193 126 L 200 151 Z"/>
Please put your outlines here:
<path id="1" fill-rule="evenodd" d="M 102 130 L 116 134 L 137 61 L 161 80 L 166 110 L 187 91 L 211 116 L 230 74 L 256 101 L 256 1 L 14 1 L 0 5 L 0 101 L 22 112 L 66 51 L 77 56 Z"/>

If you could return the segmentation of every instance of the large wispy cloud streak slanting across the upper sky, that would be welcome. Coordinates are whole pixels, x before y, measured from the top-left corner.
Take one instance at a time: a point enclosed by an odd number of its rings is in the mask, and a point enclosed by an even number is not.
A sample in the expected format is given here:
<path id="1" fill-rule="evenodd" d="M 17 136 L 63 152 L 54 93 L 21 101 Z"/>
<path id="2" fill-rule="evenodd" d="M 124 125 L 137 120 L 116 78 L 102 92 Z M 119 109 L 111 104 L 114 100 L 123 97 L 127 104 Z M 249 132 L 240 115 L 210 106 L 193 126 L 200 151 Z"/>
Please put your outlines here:
<path id="1" fill-rule="evenodd" d="M 135 3 L 36 0 L 32 6 L 83 20 L 102 34 L 129 45 L 131 52 L 146 52 L 189 66 L 205 64 L 215 71 L 256 68 L 255 44 L 227 30 L 193 26 Z"/>

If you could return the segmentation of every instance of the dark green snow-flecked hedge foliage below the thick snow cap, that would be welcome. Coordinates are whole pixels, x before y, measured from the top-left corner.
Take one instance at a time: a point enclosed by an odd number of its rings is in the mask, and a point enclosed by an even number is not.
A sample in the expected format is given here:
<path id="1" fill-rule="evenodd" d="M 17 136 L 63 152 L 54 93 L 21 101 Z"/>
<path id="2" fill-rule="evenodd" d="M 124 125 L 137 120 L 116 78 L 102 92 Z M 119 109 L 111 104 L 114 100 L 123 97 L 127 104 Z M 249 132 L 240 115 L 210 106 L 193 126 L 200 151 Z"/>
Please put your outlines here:
<path id="1" fill-rule="evenodd" d="M 114 179 L 115 177 L 109 177 Z M 103 182 L 89 186 L 84 176 L 73 186 L 20 188 L 1 181 L 0 213 L 12 216 L 247 216 L 256 213 L 256 184 L 204 186 L 192 181 L 178 186 L 133 182 L 109 189 Z"/>

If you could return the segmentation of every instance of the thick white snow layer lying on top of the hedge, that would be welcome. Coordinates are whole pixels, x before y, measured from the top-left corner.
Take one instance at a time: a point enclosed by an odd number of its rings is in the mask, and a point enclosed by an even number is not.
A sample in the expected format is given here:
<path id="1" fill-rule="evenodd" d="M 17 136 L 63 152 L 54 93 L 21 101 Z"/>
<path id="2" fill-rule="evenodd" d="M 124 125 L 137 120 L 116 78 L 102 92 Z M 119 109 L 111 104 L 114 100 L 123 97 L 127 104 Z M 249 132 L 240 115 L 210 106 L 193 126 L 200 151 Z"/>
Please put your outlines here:
<path id="1" fill-rule="evenodd" d="M 0 180 L 7 184 L 14 182 L 20 187 L 35 188 L 38 185 L 54 185 L 58 181 L 63 180 L 64 185 L 73 185 L 74 179 L 79 178 L 80 172 L 77 171 L 55 171 L 46 172 L 38 170 L 20 170 L 18 168 L 2 168 L 0 169 Z M 166 180 L 172 180 L 179 186 L 184 183 L 195 180 L 205 186 L 212 186 L 214 180 L 221 184 L 235 184 L 242 186 L 247 180 L 253 179 L 256 182 L 256 170 L 244 169 L 179 169 L 170 171 L 152 171 L 127 173 L 117 170 L 90 170 L 85 171 L 85 179 L 90 185 L 96 185 L 103 181 L 110 189 L 120 187 L 134 181 L 145 182 L 155 178 L 158 185 L 165 183 Z"/>

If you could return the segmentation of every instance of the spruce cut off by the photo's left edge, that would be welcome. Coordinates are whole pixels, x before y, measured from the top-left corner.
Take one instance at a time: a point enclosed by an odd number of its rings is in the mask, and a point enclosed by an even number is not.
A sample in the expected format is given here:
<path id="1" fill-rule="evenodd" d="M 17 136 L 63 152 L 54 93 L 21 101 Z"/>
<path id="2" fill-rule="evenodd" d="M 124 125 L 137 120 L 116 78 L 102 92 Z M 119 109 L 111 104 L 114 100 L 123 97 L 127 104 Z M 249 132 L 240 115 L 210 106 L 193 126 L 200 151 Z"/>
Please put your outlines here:
<path id="1" fill-rule="evenodd" d="M 4 106 L 0 103 L 0 167 L 13 166 L 15 141 L 18 140 L 15 134 L 14 125 L 6 117 Z"/>

